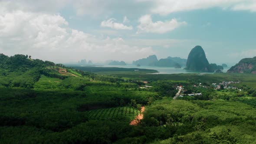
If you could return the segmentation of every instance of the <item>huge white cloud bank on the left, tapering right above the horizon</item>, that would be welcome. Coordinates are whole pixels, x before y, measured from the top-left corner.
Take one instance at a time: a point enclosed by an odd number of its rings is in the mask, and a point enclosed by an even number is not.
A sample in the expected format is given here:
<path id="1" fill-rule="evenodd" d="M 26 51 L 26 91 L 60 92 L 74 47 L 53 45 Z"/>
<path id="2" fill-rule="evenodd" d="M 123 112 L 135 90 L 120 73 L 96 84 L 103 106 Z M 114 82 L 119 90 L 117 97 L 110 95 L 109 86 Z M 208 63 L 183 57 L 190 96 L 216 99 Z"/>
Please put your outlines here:
<path id="1" fill-rule="evenodd" d="M 105 38 L 70 29 L 60 15 L 13 11 L 0 14 L 0 52 L 28 54 L 34 59 L 131 62 L 154 53 L 149 46 L 131 46 L 121 37 Z"/>

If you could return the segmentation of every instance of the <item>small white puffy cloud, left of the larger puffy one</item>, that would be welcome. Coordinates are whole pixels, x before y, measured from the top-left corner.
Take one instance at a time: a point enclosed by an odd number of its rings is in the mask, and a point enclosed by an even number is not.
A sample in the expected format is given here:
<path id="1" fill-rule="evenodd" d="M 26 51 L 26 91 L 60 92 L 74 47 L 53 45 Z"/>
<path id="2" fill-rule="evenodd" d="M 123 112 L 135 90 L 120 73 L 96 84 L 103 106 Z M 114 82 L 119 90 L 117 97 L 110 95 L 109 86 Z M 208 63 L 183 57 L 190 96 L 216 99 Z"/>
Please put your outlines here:
<path id="1" fill-rule="evenodd" d="M 111 18 L 109 20 L 102 21 L 101 26 L 102 27 L 110 27 L 112 29 L 128 29 L 131 30 L 132 26 L 126 26 L 122 23 L 116 23 L 114 22 L 115 19 Z"/>

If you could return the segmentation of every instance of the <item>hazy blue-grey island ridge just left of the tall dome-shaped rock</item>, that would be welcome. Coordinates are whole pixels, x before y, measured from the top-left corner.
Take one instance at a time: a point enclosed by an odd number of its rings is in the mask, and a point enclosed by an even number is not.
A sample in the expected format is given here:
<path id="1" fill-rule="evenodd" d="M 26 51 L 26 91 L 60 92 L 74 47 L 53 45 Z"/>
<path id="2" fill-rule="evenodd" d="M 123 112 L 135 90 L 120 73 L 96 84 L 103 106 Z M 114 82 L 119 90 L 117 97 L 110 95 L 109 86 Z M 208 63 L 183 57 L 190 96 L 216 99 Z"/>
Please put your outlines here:
<path id="1" fill-rule="evenodd" d="M 133 65 L 141 66 L 160 66 L 160 67 L 175 67 L 181 68 L 185 66 L 187 59 L 181 59 L 179 57 L 167 57 L 166 59 L 157 59 L 156 55 L 148 56 L 144 59 L 138 59 L 132 62 Z"/>

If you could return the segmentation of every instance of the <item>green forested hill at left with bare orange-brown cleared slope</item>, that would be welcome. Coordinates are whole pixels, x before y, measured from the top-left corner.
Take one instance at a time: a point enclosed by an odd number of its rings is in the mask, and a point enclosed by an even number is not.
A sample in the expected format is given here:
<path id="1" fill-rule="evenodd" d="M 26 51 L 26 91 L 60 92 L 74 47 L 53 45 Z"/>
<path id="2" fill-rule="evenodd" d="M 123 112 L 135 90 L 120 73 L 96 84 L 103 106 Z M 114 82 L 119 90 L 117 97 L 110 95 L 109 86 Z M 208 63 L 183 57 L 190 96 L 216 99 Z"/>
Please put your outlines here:
<path id="1" fill-rule="evenodd" d="M 75 69 L 66 69 L 62 64 L 31 59 L 30 56 L 0 54 L 0 86 L 33 88 L 41 75 L 66 79 L 69 75 L 89 75 Z"/>

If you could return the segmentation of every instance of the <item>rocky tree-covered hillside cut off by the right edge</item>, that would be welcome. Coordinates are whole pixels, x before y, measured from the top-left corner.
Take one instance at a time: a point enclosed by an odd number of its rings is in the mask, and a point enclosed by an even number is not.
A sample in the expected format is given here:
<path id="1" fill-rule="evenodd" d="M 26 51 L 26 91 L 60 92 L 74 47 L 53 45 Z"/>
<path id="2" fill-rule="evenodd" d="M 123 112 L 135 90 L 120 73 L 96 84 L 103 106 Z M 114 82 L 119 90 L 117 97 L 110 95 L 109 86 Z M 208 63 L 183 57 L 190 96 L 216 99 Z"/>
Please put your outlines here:
<path id="1" fill-rule="evenodd" d="M 256 73 L 256 56 L 240 60 L 232 66 L 227 73 Z"/>

